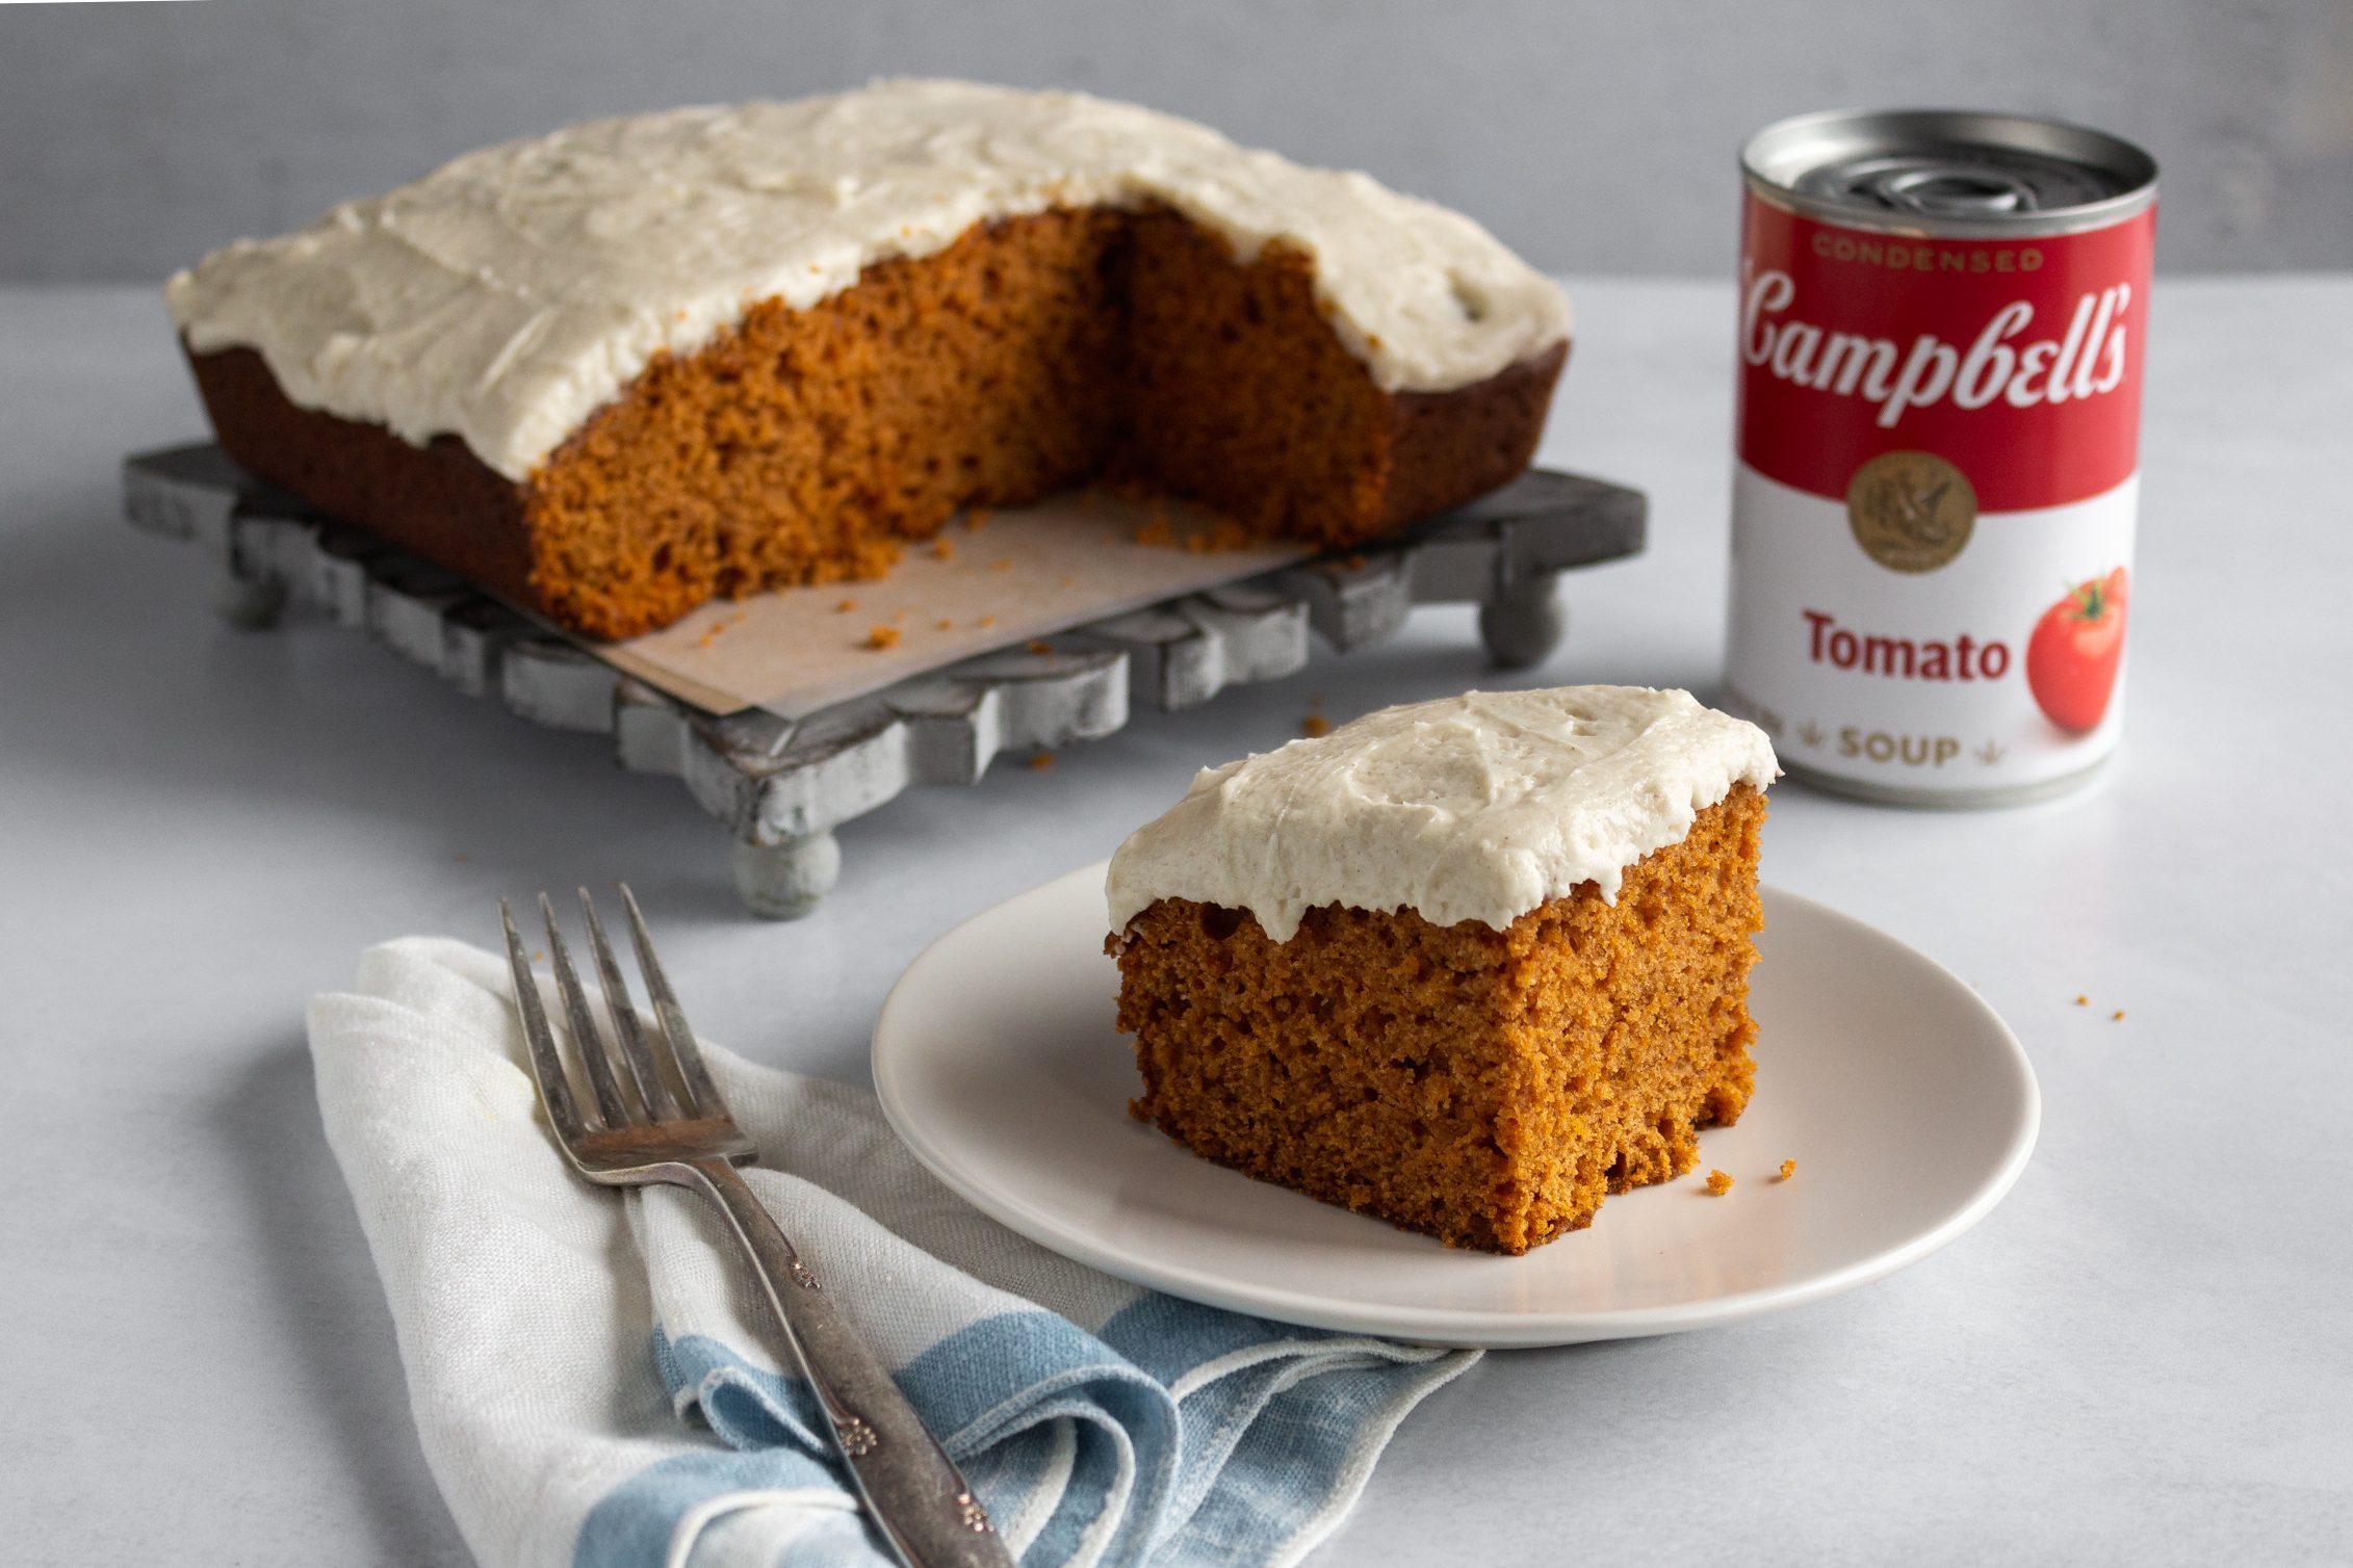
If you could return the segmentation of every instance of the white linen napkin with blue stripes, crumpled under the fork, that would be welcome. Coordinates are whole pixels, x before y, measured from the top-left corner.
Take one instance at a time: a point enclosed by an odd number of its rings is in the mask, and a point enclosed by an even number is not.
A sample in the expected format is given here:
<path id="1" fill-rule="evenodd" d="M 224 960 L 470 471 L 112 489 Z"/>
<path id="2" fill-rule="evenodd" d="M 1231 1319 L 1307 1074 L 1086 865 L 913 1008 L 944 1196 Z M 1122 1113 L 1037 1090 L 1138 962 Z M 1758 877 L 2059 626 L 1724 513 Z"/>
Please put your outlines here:
<path id="1" fill-rule="evenodd" d="M 508 985 L 407 938 L 311 1004 L 327 1143 L 466 1542 L 485 1568 L 887 1563 L 718 1213 L 560 1161 Z M 1031 1568 L 1294 1563 L 1475 1361 L 1096 1274 L 941 1187 L 866 1091 L 706 1056 L 760 1201 Z"/>

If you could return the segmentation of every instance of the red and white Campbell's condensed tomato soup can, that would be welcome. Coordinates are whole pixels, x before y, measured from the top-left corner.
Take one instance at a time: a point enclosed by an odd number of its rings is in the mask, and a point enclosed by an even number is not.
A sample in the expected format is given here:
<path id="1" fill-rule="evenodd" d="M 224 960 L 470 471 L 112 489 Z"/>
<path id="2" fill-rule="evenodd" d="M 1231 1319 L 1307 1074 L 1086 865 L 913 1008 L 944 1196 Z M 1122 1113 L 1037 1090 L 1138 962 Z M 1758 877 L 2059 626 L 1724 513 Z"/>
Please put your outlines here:
<path id="1" fill-rule="evenodd" d="M 1871 799 L 2073 788 L 2122 726 L 2155 162 L 1901 110 L 1741 172 L 1732 703 Z"/>

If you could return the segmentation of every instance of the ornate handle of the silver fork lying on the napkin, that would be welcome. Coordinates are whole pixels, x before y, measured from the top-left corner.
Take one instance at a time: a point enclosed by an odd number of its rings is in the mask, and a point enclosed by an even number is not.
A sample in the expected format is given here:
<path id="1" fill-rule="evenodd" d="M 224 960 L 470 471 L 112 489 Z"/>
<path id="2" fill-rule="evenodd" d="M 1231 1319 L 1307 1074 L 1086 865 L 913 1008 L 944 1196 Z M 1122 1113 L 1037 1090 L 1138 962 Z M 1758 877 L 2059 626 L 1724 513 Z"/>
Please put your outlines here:
<path id="1" fill-rule="evenodd" d="M 718 1199 L 776 1309 L 784 1349 L 826 1413 L 866 1514 L 908 1568 L 1014 1568 L 955 1460 L 892 1382 L 831 1281 L 819 1279 L 725 1159 L 687 1168 Z"/>

